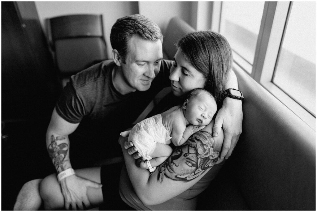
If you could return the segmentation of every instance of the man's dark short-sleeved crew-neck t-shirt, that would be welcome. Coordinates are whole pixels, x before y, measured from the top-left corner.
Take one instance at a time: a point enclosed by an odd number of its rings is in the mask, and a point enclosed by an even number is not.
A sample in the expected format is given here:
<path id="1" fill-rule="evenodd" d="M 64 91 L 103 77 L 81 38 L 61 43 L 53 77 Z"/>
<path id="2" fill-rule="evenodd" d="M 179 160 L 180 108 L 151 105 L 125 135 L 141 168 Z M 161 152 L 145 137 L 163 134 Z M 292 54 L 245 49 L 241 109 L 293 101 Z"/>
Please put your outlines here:
<path id="1" fill-rule="evenodd" d="M 127 95 L 120 94 L 113 86 L 113 62 L 93 65 L 70 78 L 57 101 L 56 111 L 70 123 L 80 122 L 75 132 L 87 138 L 87 144 L 94 145 L 101 153 L 105 151 L 105 158 L 119 156 L 122 154 L 118 144 L 120 132 L 132 127 L 155 95 L 170 86 L 171 65 L 171 61 L 162 60 L 150 89 Z M 74 145 L 71 140 L 72 148 Z"/>

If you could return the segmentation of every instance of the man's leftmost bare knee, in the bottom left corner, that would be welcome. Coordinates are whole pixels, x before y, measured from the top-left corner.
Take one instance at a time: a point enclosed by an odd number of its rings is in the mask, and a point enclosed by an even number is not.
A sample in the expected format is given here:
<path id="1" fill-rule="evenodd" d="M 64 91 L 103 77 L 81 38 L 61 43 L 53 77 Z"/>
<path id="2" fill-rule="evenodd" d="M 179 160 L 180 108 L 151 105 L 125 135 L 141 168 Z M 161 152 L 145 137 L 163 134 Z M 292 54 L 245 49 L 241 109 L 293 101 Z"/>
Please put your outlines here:
<path id="1" fill-rule="evenodd" d="M 42 205 L 40 183 L 42 179 L 35 179 L 22 186 L 14 204 L 13 210 L 38 210 Z"/>

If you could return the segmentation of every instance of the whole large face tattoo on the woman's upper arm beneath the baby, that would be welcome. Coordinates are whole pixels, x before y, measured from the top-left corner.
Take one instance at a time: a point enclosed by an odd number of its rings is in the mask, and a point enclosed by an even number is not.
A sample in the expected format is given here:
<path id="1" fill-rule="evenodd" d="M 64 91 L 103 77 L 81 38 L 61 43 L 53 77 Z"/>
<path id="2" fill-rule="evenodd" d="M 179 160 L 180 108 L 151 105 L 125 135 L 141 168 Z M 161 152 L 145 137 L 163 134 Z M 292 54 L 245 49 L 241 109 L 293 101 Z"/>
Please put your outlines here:
<path id="1" fill-rule="evenodd" d="M 164 176 L 173 180 L 192 180 L 214 166 L 219 152 L 214 151 L 211 133 L 201 130 L 173 150 L 171 156 L 159 166 L 159 182 Z"/>

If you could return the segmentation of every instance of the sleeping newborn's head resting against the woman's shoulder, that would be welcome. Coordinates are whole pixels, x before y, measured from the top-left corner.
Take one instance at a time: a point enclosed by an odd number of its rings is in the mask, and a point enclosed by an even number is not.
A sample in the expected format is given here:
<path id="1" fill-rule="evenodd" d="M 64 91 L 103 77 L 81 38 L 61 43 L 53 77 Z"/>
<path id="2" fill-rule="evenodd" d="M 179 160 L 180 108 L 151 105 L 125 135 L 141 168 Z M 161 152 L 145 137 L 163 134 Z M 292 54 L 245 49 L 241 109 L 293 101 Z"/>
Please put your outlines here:
<path id="1" fill-rule="evenodd" d="M 189 93 L 182 109 L 192 125 L 208 125 L 217 111 L 217 103 L 209 91 L 196 88 Z"/>

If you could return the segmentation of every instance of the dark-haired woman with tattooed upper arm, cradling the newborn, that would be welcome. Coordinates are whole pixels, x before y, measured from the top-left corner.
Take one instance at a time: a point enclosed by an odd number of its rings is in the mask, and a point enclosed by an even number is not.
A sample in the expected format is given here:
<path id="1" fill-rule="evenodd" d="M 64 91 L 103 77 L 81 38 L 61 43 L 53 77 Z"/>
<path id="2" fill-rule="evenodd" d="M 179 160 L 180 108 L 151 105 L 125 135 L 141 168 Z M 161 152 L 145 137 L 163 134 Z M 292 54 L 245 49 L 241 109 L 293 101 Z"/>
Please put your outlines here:
<path id="1" fill-rule="evenodd" d="M 230 46 L 223 36 L 210 31 L 187 34 L 178 42 L 174 60 L 170 71 L 174 97 L 166 97 L 168 100 L 163 102 L 167 104 L 161 108 L 184 101 L 194 88 L 209 90 L 218 103 L 221 102 L 232 60 Z M 169 159 L 150 176 L 147 170 L 134 164 L 133 157 L 138 157 L 129 155 L 134 153 L 133 149 L 124 151 L 132 143 L 121 137 L 119 143 L 126 164 L 120 179 L 122 199 L 139 210 L 195 210 L 195 197 L 208 186 L 223 164 L 223 159 L 219 159 L 223 132 L 213 138 L 213 125 L 211 122 L 183 146 L 176 147 Z M 128 131 L 122 135 L 127 134 Z"/>

